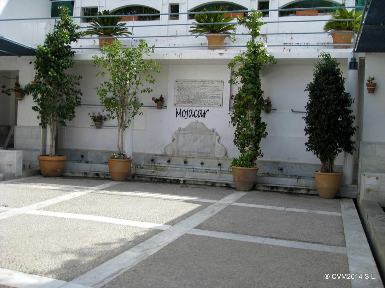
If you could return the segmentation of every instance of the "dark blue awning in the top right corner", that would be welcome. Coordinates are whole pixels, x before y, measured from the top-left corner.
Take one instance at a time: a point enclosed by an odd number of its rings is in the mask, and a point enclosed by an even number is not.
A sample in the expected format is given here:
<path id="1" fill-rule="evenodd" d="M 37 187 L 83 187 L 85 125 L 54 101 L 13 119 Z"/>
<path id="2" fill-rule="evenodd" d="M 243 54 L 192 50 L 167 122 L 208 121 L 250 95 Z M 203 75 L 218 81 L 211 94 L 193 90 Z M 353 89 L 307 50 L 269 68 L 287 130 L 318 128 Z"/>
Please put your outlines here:
<path id="1" fill-rule="evenodd" d="M 357 45 L 357 52 L 385 52 L 385 1 L 372 0 L 362 33 Z"/>

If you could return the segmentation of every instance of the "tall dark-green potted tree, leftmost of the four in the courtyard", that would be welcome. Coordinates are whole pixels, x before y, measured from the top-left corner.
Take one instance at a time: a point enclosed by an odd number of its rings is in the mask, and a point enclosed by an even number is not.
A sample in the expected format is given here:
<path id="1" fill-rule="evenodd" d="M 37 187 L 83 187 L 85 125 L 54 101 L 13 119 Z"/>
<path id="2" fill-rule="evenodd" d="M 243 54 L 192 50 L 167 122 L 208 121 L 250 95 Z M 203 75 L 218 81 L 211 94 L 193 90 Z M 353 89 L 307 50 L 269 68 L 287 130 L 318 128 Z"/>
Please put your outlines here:
<path id="1" fill-rule="evenodd" d="M 82 36 L 77 32 L 80 28 L 74 24 L 69 16 L 69 9 L 59 7 L 60 20 L 54 26 L 54 31 L 49 32 L 44 45 L 38 45 L 34 61 L 37 84 L 27 84 L 24 88 L 26 94 L 32 94 L 35 106 L 32 110 L 39 113 L 39 126 L 49 126 L 51 137 L 49 155 L 38 157 L 42 174 L 49 177 L 60 176 L 65 166 L 65 156 L 55 154 L 55 138 L 57 125 L 66 126 L 65 121 L 75 117 L 75 107 L 80 106 L 80 75 L 67 74 L 74 61 L 71 59 L 75 51 L 71 43 Z"/>

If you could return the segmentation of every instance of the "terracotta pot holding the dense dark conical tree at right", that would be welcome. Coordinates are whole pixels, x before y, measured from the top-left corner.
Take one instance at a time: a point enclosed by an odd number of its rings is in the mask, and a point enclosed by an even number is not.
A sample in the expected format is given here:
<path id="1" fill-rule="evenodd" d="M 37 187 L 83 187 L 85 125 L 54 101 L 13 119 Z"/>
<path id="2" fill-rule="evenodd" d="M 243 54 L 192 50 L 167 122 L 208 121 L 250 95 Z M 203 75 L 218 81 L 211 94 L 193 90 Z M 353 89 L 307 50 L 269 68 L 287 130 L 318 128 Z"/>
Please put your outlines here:
<path id="1" fill-rule="evenodd" d="M 333 199 L 341 187 L 343 173 L 322 173 L 314 171 L 315 187 L 322 198 Z"/>

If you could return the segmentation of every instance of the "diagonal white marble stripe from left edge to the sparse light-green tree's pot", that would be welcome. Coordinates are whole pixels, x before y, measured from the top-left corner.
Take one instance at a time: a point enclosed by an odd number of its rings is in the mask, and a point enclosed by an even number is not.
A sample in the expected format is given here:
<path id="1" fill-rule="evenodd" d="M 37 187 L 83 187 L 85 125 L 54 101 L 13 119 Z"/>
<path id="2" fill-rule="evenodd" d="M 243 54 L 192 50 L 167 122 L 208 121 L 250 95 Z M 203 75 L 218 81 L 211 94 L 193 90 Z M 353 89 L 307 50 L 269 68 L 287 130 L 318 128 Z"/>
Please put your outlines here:
<path id="1" fill-rule="evenodd" d="M 111 181 L 111 182 L 108 182 L 108 183 L 105 183 L 105 184 L 102 184 L 102 185 L 99 185 L 99 186 L 87 188 L 85 190 L 69 193 L 69 194 L 66 194 L 66 195 L 61 195 L 59 197 L 52 198 L 52 199 L 49 199 L 49 200 L 45 200 L 45 201 L 42 201 L 42 202 L 39 202 L 39 203 L 31 204 L 31 205 L 24 206 L 24 207 L 21 207 L 21 208 L 15 208 L 15 209 L 9 210 L 7 212 L 1 213 L 0 214 L 0 220 L 8 218 L 8 217 L 15 216 L 15 215 L 24 214 L 24 213 L 26 213 L 28 211 L 37 210 L 37 209 L 40 209 L 40 208 L 43 208 L 43 207 L 46 207 L 46 206 L 49 206 L 49 205 L 52 205 L 52 204 L 63 202 L 65 200 L 73 199 L 75 197 L 79 197 L 79 196 L 91 193 L 92 191 L 95 191 L 95 190 L 98 190 L 98 189 L 105 189 L 105 188 L 107 188 L 109 186 L 116 185 L 118 183 L 119 182 Z"/>

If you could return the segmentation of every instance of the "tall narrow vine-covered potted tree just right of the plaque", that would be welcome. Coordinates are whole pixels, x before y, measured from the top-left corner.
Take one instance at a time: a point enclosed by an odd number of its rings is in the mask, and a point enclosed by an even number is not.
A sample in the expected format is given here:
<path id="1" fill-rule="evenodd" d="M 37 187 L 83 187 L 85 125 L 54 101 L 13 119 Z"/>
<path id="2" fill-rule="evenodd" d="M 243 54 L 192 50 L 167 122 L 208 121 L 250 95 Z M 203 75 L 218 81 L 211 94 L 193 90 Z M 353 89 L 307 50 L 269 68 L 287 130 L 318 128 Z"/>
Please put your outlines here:
<path id="1" fill-rule="evenodd" d="M 265 99 L 259 73 L 269 63 L 276 63 L 273 56 L 268 54 L 264 43 L 256 41 L 260 27 L 264 24 L 259 20 L 260 17 L 262 13 L 254 10 L 245 18 L 238 17 L 239 25 L 248 28 L 251 39 L 246 44 L 246 51 L 235 56 L 228 64 L 232 70 L 229 82 L 238 86 L 233 112 L 230 114 L 230 124 L 236 127 L 234 144 L 241 155 L 238 159 L 233 159 L 230 167 L 235 187 L 240 191 L 249 191 L 254 185 L 258 173 L 258 167 L 255 167 L 256 160 L 263 157 L 259 144 L 267 136 L 266 123 L 261 118 Z M 239 65 L 238 70 L 234 69 L 236 65 Z"/>

